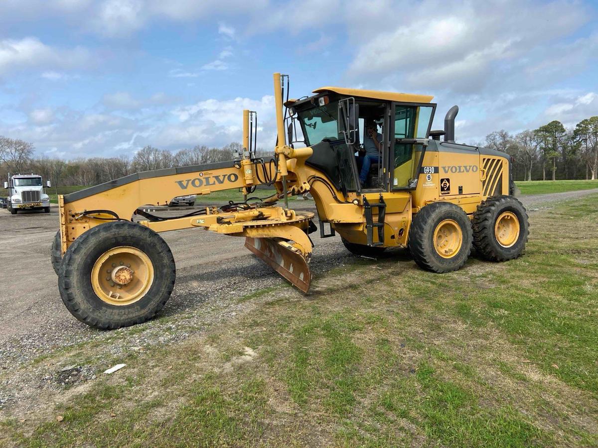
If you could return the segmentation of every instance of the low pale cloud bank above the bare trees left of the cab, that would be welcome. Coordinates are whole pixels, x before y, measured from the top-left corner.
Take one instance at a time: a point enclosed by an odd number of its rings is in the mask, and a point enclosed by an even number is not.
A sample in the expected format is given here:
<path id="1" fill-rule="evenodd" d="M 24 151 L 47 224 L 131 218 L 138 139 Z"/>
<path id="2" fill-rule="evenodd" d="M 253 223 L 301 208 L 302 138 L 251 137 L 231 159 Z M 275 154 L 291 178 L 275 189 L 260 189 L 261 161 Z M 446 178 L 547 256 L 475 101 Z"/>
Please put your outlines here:
<path id="1" fill-rule="evenodd" d="M 39 108 L 29 113 L 28 121 L 13 125 L 0 121 L 0 135 L 19 136 L 32 142 L 40 153 L 68 158 L 130 156 L 145 145 L 173 151 L 194 145 L 219 147 L 240 142 L 242 110 L 251 109 L 260 117 L 258 145 L 271 148 L 276 136 L 272 96 L 206 99 L 170 109 L 145 107 L 172 100 L 161 93 L 139 99 L 120 92 L 105 99 L 118 102 L 120 108 L 134 103 L 140 108 L 129 117 L 110 111 L 74 111 L 65 106 L 59 112 Z"/>

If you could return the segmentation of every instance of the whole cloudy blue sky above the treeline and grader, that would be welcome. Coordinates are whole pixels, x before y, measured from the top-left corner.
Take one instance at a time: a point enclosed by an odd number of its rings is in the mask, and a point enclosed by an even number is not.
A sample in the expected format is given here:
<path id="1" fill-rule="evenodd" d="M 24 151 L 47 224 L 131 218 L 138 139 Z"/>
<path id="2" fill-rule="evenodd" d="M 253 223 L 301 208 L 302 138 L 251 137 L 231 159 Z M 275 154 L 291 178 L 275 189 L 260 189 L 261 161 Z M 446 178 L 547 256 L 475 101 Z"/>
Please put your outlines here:
<path id="1" fill-rule="evenodd" d="M 595 1 L 0 0 L 0 135 L 37 155 L 274 143 L 273 72 L 433 94 L 457 140 L 598 115 Z"/>

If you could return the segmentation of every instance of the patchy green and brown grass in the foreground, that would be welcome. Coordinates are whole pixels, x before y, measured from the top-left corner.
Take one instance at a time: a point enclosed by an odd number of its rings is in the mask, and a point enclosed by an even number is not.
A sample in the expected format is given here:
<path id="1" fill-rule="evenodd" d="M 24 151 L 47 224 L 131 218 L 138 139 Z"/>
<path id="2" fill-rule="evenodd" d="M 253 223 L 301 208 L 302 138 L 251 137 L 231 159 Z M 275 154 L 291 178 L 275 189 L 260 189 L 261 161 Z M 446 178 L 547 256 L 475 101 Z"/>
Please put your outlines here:
<path id="1" fill-rule="evenodd" d="M 400 252 L 355 259 L 315 272 L 309 296 L 244 297 L 251 311 L 177 345 L 114 360 L 75 346 L 44 362 L 95 362 L 98 379 L 0 432 L 24 446 L 596 446 L 597 200 L 532 213 L 508 263 L 437 275 Z M 127 367 L 100 375 L 109 361 Z"/>

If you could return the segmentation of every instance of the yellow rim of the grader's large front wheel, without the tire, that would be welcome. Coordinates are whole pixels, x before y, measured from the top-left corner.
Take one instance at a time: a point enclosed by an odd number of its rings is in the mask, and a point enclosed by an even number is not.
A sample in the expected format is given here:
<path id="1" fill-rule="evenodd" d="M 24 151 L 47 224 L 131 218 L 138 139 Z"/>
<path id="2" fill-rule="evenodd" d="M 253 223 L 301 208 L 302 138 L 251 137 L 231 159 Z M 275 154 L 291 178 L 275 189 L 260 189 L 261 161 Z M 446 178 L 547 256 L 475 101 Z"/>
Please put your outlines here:
<path id="1" fill-rule="evenodd" d="M 136 247 L 114 247 L 102 254 L 91 269 L 91 286 L 110 305 L 130 305 L 147 294 L 154 283 L 154 265 Z"/>

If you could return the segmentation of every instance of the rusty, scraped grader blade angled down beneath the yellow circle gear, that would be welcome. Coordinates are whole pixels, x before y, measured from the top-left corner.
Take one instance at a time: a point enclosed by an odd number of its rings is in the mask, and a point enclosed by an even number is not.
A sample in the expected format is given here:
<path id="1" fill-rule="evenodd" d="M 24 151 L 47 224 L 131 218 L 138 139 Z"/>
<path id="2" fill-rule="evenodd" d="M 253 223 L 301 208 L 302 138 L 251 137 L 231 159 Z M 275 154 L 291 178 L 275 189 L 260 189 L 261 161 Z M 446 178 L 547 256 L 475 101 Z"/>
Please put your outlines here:
<path id="1" fill-rule="evenodd" d="M 245 238 L 245 247 L 275 269 L 304 293 L 309 290 L 312 274 L 301 251 L 276 238 Z"/>

